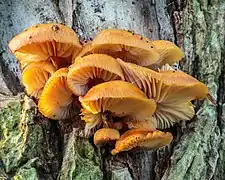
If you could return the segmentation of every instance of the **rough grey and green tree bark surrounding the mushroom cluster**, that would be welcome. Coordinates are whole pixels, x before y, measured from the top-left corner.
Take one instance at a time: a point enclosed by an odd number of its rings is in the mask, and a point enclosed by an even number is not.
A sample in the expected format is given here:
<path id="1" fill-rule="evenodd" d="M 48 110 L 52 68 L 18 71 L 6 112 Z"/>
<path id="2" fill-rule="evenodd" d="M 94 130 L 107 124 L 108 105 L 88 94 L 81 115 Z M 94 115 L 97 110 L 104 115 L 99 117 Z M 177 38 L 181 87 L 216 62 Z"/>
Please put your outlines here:
<path id="1" fill-rule="evenodd" d="M 225 179 L 224 19 L 224 0 L 0 0 L 0 179 Z M 185 52 L 181 69 L 208 85 L 216 105 L 196 103 L 196 117 L 171 129 L 169 147 L 117 156 L 96 149 L 73 123 L 49 121 L 16 95 L 21 73 L 7 44 L 52 21 L 81 40 L 117 27 L 177 43 Z"/>

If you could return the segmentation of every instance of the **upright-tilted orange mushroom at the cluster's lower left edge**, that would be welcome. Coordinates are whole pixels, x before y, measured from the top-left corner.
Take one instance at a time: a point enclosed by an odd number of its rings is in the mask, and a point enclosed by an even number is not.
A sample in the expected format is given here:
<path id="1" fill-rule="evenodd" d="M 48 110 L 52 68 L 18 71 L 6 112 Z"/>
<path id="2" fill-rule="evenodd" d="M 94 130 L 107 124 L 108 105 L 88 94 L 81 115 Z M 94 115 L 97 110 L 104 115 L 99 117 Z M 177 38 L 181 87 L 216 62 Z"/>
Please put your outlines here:
<path id="1" fill-rule="evenodd" d="M 38 102 L 39 111 L 50 119 L 71 117 L 73 94 L 67 87 L 67 68 L 56 71 L 47 81 Z"/>

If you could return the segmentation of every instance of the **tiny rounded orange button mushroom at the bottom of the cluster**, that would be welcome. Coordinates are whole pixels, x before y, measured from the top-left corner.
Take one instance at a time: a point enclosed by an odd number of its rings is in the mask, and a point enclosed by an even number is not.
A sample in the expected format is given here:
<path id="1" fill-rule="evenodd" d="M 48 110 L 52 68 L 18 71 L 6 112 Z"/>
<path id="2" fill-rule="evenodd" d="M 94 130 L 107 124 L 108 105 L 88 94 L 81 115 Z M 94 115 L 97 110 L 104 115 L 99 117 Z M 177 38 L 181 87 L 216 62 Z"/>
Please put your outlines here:
<path id="1" fill-rule="evenodd" d="M 120 138 L 120 133 L 116 129 L 102 128 L 94 134 L 94 144 L 96 146 L 102 146 L 106 143 L 116 141 Z"/>

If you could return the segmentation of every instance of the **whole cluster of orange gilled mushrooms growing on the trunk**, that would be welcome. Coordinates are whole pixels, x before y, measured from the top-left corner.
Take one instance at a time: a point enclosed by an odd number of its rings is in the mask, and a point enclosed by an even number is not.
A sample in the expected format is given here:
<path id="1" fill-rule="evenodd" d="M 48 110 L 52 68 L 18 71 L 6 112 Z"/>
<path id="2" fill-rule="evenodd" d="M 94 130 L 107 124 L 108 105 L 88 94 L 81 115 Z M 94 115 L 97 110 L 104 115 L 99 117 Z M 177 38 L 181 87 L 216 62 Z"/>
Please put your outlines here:
<path id="1" fill-rule="evenodd" d="M 39 24 L 9 48 L 40 113 L 64 120 L 77 106 L 85 134 L 94 134 L 96 146 L 112 143 L 113 155 L 168 145 L 172 134 L 160 130 L 192 119 L 191 101 L 208 94 L 206 85 L 170 66 L 183 58 L 179 47 L 130 31 L 106 29 L 81 43 L 67 26 Z"/>

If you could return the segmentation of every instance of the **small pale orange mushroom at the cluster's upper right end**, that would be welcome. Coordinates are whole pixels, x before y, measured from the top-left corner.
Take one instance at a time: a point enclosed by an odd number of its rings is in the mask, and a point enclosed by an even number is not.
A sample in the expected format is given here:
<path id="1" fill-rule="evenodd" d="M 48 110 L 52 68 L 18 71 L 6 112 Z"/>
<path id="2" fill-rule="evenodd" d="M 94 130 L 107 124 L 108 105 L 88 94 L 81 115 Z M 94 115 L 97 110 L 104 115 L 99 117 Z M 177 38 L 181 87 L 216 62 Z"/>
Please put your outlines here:
<path id="1" fill-rule="evenodd" d="M 166 63 L 172 65 L 184 57 L 182 50 L 170 41 L 155 40 L 152 41 L 152 44 L 160 55 L 158 64 L 161 66 Z"/>

